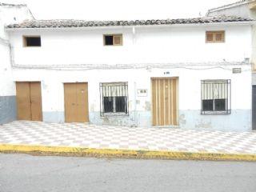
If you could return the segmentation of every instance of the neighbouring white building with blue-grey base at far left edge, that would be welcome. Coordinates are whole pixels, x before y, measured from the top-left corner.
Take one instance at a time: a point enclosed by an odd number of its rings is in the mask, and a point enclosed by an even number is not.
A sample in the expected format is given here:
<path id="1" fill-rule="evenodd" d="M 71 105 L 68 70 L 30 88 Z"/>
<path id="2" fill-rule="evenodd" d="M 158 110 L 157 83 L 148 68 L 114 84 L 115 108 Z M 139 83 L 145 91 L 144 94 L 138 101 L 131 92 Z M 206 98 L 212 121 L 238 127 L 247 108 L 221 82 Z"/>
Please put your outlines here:
<path id="1" fill-rule="evenodd" d="M 33 19 L 26 5 L 0 2 L 0 124 L 17 119 L 16 89 L 10 66 L 10 42 L 4 27 L 26 19 Z"/>

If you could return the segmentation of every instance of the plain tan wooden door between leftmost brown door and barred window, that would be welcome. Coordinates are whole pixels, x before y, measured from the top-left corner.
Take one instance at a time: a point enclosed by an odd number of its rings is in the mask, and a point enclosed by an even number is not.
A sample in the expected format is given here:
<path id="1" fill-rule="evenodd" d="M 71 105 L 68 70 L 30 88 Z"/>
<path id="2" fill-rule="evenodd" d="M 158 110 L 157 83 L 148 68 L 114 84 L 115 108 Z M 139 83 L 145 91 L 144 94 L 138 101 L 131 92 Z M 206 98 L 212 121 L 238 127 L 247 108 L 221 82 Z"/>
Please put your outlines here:
<path id="1" fill-rule="evenodd" d="M 64 83 L 65 121 L 89 122 L 88 117 L 88 84 Z"/>

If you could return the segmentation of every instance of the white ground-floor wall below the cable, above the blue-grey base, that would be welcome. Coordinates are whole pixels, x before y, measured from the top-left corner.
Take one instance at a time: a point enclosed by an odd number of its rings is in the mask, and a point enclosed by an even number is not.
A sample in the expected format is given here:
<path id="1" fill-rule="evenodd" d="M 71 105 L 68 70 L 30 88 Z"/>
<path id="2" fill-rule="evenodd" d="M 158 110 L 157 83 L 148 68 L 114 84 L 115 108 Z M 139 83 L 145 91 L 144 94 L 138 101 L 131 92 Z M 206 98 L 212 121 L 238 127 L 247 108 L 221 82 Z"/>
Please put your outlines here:
<path id="1" fill-rule="evenodd" d="M 44 111 L 64 111 L 63 82 L 88 82 L 90 109 L 99 111 L 99 83 L 100 82 L 129 82 L 129 100 L 134 102 L 134 82 L 137 89 L 150 91 L 151 77 L 179 78 L 179 109 L 201 109 L 201 80 L 203 79 L 231 79 L 232 109 L 251 108 L 250 66 L 242 67 L 242 74 L 233 74 L 232 67 L 223 69 L 153 69 L 153 70 L 14 70 L 14 81 L 42 81 L 42 99 Z M 170 74 L 165 75 L 164 72 Z M 246 93 L 246 94 L 245 94 Z M 150 92 L 147 97 L 139 98 L 143 102 L 150 102 Z M 143 103 L 142 102 L 142 103 Z M 134 110 L 131 103 L 130 110 Z M 143 104 L 137 110 L 144 110 Z"/>

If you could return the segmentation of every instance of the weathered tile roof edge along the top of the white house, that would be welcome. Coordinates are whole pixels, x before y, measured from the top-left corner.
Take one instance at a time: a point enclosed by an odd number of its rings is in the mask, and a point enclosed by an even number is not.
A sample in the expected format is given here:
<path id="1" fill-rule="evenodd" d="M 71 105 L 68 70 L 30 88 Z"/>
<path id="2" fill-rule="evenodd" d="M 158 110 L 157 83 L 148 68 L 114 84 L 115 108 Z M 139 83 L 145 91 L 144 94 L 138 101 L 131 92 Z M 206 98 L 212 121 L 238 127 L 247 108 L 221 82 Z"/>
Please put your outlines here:
<path id="1" fill-rule="evenodd" d="M 178 18 L 161 20 L 134 20 L 134 21 L 86 21 L 74 19 L 57 20 L 27 20 L 22 23 L 6 26 L 7 28 L 60 28 L 60 27 L 90 27 L 90 26 L 154 26 L 154 25 L 174 25 L 174 24 L 200 24 L 218 22 L 251 22 L 251 18 L 241 18 L 238 16 L 220 15 L 217 17 L 205 18 Z"/>

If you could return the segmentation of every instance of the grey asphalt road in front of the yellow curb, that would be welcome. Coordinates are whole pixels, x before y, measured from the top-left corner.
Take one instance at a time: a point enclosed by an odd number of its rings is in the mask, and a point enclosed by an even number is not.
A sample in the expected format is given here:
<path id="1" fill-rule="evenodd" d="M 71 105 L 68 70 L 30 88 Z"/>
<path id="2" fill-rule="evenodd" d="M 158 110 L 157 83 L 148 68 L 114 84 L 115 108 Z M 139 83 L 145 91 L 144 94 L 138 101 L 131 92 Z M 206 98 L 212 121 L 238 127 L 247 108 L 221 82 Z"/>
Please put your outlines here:
<path id="1" fill-rule="evenodd" d="M 0 154 L 0 192 L 255 192 L 256 162 Z"/>

